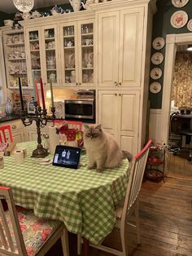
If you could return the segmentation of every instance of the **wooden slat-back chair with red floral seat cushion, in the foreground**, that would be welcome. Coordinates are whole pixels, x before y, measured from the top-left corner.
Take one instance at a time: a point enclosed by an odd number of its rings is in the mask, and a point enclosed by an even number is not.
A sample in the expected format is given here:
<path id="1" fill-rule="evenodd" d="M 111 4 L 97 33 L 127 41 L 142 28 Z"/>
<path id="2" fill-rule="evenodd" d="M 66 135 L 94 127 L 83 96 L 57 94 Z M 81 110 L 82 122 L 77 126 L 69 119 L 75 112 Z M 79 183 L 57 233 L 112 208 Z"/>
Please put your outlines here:
<path id="1" fill-rule="evenodd" d="M 68 232 L 63 223 L 37 218 L 33 210 L 16 210 L 11 188 L 0 187 L 0 198 L 8 205 L 4 211 L 0 200 L 0 255 L 42 256 L 59 238 L 64 256 L 69 255 Z"/>

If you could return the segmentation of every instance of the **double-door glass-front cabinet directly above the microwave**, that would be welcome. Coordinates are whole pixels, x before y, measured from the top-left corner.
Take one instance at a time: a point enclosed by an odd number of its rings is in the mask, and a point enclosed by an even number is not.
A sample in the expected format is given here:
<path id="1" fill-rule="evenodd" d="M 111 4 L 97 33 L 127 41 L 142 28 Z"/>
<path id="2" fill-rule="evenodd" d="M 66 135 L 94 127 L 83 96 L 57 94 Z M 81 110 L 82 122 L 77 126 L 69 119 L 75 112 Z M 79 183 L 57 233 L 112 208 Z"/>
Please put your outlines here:
<path id="1" fill-rule="evenodd" d="M 94 20 L 60 24 L 64 86 L 94 85 Z"/>

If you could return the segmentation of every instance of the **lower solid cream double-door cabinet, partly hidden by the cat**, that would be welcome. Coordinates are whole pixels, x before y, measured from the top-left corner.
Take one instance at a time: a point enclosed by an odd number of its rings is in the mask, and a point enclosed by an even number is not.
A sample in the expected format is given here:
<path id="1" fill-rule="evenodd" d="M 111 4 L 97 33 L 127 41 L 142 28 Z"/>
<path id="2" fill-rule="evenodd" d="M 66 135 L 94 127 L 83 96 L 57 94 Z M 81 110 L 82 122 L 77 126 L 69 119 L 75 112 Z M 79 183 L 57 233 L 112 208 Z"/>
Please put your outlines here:
<path id="1" fill-rule="evenodd" d="M 98 123 L 122 150 L 137 153 L 140 90 L 99 90 Z"/>

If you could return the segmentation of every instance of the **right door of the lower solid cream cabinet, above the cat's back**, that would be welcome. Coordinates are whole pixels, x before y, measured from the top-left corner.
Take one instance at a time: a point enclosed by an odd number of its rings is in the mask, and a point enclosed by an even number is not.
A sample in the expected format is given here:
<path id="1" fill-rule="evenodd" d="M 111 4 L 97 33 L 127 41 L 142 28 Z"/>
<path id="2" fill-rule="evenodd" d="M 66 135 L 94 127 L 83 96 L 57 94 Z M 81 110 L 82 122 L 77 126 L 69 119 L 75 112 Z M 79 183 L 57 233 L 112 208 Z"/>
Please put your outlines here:
<path id="1" fill-rule="evenodd" d="M 140 91 L 118 93 L 118 141 L 122 150 L 137 153 Z"/>

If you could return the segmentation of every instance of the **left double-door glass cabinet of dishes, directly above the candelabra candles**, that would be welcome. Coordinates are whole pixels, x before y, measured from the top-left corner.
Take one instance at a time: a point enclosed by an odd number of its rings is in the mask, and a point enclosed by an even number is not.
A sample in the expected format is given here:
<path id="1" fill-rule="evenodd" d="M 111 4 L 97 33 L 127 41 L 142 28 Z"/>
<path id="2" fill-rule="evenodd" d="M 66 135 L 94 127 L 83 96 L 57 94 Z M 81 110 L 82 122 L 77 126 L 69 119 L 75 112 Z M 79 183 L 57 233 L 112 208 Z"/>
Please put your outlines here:
<path id="1" fill-rule="evenodd" d="M 57 24 L 37 26 L 25 29 L 28 70 L 31 70 L 28 79 L 33 85 L 34 78 L 44 85 L 52 80 L 53 86 L 59 86 L 59 45 Z"/>

